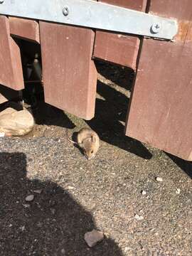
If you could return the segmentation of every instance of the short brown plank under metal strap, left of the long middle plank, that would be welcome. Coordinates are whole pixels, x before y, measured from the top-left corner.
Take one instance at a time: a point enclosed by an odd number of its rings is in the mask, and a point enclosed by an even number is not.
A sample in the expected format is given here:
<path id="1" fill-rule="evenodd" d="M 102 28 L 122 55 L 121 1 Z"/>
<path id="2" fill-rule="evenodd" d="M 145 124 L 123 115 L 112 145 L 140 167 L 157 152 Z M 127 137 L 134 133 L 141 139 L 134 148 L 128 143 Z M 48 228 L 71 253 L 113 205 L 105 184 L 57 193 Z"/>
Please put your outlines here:
<path id="1" fill-rule="evenodd" d="M 40 43 L 38 22 L 26 18 L 9 17 L 11 36 Z"/>

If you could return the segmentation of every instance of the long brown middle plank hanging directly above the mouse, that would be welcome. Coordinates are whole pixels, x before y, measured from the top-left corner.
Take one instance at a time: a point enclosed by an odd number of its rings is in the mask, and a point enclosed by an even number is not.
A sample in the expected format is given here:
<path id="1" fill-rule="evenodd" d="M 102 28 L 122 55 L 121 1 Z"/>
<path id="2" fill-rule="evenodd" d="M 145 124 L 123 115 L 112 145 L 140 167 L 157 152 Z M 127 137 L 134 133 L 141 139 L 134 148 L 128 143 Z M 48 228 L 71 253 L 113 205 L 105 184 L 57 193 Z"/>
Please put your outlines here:
<path id="1" fill-rule="evenodd" d="M 95 114 L 97 71 L 91 29 L 40 22 L 46 102 L 84 119 Z"/>

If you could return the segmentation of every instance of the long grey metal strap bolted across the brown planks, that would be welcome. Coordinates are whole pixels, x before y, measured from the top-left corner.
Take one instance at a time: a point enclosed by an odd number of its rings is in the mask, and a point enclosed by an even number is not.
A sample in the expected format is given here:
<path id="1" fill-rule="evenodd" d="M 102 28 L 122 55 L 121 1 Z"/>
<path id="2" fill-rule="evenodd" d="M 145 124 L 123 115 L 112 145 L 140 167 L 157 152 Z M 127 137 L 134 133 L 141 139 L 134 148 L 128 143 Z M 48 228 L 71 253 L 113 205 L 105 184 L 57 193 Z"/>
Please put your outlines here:
<path id="1" fill-rule="evenodd" d="M 0 0 L 0 14 L 172 40 L 175 20 L 91 0 Z"/>

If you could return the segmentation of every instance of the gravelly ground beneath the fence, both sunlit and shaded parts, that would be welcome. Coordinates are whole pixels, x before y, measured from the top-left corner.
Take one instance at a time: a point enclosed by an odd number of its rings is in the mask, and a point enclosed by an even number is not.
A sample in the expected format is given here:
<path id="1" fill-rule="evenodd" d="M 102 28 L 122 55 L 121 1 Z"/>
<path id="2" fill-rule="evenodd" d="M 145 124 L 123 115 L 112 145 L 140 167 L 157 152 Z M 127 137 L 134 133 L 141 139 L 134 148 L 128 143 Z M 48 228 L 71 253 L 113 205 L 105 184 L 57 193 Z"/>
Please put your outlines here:
<path id="1" fill-rule="evenodd" d="M 2 256 L 192 255 L 191 163 L 124 137 L 132 72 L 96 64 L 94 119 L 39 102 L 31 134 L 0 139 Z M 90 161 L 65 138 L 85 126 L 101 138 Z"/>

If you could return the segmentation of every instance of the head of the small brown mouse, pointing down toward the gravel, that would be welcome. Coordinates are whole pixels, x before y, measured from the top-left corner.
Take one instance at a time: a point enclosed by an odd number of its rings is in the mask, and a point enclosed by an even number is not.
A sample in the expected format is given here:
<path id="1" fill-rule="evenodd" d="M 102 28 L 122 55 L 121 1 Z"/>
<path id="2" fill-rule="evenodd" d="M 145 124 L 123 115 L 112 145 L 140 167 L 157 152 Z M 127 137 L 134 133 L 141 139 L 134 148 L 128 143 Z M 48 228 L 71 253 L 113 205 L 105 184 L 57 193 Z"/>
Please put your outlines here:
<path id="1" fill-rule="evenodd" d="M 95 137 L 89 137 L 85 139 L 85 141 L 82 144 L 82 149 L 84 151 L 84 154 L 88 160 L 95 157 L 95 154 L 97 153 L 99 149 L 99 145 L 97 145 L 96 138 Z"/>

